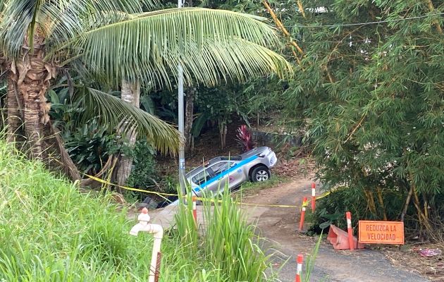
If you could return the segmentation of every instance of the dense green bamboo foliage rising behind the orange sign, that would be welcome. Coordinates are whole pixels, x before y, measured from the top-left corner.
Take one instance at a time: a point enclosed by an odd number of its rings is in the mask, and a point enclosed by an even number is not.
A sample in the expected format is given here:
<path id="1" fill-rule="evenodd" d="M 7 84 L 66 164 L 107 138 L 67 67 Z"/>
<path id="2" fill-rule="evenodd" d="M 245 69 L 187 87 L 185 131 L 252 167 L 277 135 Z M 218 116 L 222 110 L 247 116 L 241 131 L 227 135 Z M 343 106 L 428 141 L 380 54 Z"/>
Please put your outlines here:
<path id="1" fill-rule="evenodd" d="M 439 226 L 444 35 L 443 16 L 436 14 L 444 4 L 338 0 L 304 6 L 323 8 L 283 16 L 303 49 L 285 99 L 309 128 L 306 141 L 313 144 L 324 188 L 346 186 L 353 205 L 367 203 L 370 215 L 360 213 L 366 218 L 399 220 L 407 212 L 409 224 Z"/>

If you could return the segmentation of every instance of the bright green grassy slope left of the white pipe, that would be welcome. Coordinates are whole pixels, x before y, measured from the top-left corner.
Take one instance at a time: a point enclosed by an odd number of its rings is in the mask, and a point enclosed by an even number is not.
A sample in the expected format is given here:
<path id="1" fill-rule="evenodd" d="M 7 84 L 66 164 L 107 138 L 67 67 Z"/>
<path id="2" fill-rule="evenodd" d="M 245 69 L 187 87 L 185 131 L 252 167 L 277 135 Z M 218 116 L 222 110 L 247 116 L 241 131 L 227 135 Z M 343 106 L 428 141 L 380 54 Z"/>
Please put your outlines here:
<path id="1" fill-rule="evenodd" d="M 0 278 L 144 281 L 137 261 L 151 244 L 128 235 L 130 225 L 108 197 L 81 195 L 0 141 Z"/>

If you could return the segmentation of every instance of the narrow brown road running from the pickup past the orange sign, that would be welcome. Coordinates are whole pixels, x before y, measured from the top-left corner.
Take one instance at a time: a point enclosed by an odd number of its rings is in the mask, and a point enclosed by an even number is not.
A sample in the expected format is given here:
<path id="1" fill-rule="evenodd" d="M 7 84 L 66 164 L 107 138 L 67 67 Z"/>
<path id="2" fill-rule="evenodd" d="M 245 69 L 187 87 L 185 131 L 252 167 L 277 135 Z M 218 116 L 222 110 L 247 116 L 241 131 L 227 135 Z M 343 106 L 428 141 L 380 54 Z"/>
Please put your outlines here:
<path id="1" fill-rule="evenodd" d="M 247 197 L 244 202 L 294 205 L 296 202 L 301 202 L 303 196 L 311 195 L 310 188 L 311 181 L 300 178 L 275 188 L 260 190 L 257 195 Z M 250 211 L 249 214 L 251 220 L 257 220 L 261 235 L 268 238 L 266 247 L 273 253 L 275 264 L 273 270 L 278 271 L 280 281 L 295 281 L 295 258 L 299 253 L 307 257 L 316 239 L 297 233 L 296 226 L 300 215 L 296 209 L 274 207 L 256 209 L 260 211 Z M 288 263 L 285 264 L 287 260 Z M 324 240 L 310 281 L 423 282 L 428 280 L 418 274 L 395 268 L 386 257 L 375 250 L 335 251 Z"/>

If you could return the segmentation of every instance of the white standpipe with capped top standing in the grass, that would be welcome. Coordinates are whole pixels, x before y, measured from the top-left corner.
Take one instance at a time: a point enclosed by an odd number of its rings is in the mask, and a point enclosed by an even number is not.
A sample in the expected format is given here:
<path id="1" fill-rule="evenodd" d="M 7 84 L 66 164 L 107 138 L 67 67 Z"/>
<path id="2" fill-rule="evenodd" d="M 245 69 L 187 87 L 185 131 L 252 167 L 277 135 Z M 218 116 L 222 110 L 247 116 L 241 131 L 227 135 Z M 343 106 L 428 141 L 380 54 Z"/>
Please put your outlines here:
<path id="1" fill-rule="evenodd" d="M 154 244 L 151 256 L 151 266 L 149 267 L 148 282 L 154 282 L 157 267 L 157 253 L 160 252 L 162 238 L 164 237 L 164 228 L 162 228 L 162 226 L 160 226 L 159 224 L 148 223 L 149 215 L 147 214 L 147 212 L 148 210 L 146 208 L 142 209 L 142 213 L 139 215 L 138 218 L 139 223 L 137 223 L 135 226 L 132 226 L 130 235 L 137 236 L 140 231 L 153 234 Z"/>

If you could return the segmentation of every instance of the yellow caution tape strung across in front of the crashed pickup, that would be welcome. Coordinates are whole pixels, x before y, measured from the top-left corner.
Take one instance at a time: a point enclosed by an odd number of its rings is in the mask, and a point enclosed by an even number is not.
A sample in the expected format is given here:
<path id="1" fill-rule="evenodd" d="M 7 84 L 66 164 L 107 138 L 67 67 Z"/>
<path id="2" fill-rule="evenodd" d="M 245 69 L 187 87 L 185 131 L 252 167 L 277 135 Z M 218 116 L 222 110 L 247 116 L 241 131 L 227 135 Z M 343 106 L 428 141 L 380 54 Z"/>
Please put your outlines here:
<path id="1" fill-rule="evenodd" d="M 85 176 L 87 176 L 88 178 L 91 178 L 92 180 L 95 180 L 99 183 L 105 184 L 105 185 L 113 185 L 116 186 L 118 188 L 122 188 L 125 190 L 130 190 L 130 191 L 135 191 L 135 192 L 142 192 L 142 193 L 147 193 L 147 194 L 154 194 L 157 195 L 159 197 L 164 198 L 165 200 L 169 201 L 165 196 L 175 196 L 175 197 L 179 197 L 178 194 L 169 194 L 169 193 L 161 193 L 161 192 L 154 192 L 154 191 L 147 191 L 147 190 L 142 190 L 142 189 L 137 189 L 137 188 L 131 188 L 131 187 L 127 187 L 127 186 L 122 186 L 122 185 L 117 185 L 114 183 L 111 183 L 109 181 L 103 180 L 101 178 L 97 178 L 95 176 L 90 176 L 88 174 L 85 174 Z M 323 197 L 326 197 L 330 194 L 331 192 L 325 192 L 323 193 L 323 195 L 316 197 L 316 200 L 321 199 Z M 186 197 L 186 196 L 183 196 Z M 197 197 L 196 198 L 199 201 L 206 201 L 206 202 L 222 202 L 221 200 L 213 200 L 213 199 L 207 199 L 207 198 L 202 198 L 202 197 Z M 233 202 L 234 204 L 239 204 L 239 205 L 245 205 L 245 206 L 254 206 L 254 207 L 284 207 L 284 208 L 299 208 L 298 206 L 292 206 L 292 205 L 287 205 L 287 204 L 250 204 L 250 203 L 245 203 L 245 202 Z M 309 200 L 304 201 L 302 203 L 303 207 L 307 207 L 309 203 Z"/>

